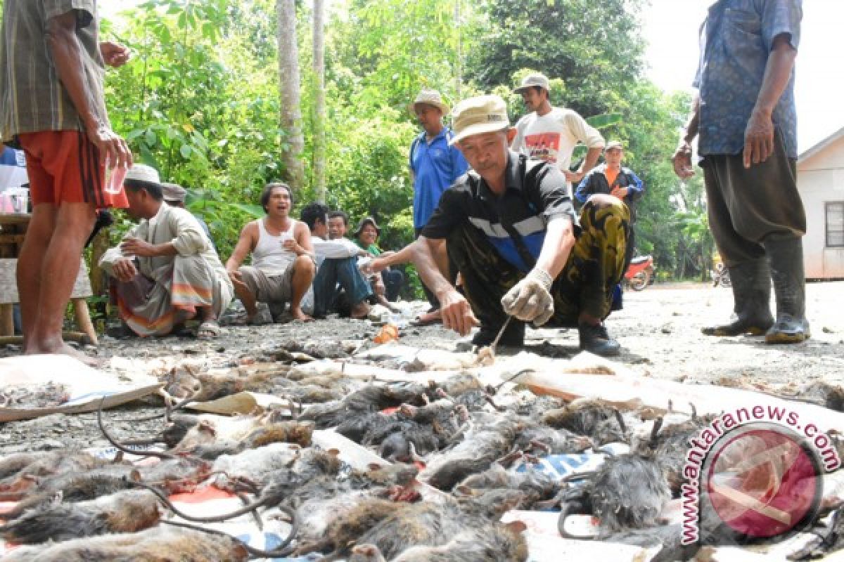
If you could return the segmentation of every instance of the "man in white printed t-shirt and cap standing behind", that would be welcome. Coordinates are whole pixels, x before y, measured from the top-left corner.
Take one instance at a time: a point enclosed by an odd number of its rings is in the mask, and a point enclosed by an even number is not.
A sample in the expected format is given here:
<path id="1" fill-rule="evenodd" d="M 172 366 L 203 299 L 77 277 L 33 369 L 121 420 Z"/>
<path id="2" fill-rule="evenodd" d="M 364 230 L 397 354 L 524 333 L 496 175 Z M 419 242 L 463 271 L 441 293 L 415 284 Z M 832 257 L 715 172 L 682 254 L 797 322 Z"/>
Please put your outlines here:
<path id="1" fill-rule="evenodd" d="M 514 91 L 522 94 L 525 106 L 532 113 L 516 124 L 511 148 L 530 158 L 557 164 L 565 174 L 571 195 L 571 184 L 579 184 L 598 163 L 603 151 L 603 136 L 575 110 L 551 105 L 550 86 L 544 74 L 528 74 Z M 578 142 L 585 144 L 588 150 L 580 168 L 572 172 L 569 169 L 571 153 Z"/>

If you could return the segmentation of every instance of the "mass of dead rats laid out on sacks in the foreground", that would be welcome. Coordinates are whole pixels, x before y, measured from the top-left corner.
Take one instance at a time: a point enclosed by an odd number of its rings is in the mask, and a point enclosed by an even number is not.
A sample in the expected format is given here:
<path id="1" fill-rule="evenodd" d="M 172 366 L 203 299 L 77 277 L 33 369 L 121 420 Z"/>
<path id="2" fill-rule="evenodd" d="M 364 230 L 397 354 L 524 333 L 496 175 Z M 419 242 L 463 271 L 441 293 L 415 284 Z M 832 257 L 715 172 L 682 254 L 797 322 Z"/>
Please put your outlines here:
<path id="1" fill-rule="evenodd" d="M 26 546 L 4 559 L 808 559 L 840 546 L 838 473 L 825 478 L 825 540 L 679 543 L 689 437 L 750 404 L 833 431 L 844 424 L 830 409 L 588 354 L 479 366 L 473 351 L 360 344 L 113 359 L 111 372 L 154 375 L 172 411 L 147 399 L 135 423 L 106 409 L 115 447 L 5 455 L 0 536 Z"/>

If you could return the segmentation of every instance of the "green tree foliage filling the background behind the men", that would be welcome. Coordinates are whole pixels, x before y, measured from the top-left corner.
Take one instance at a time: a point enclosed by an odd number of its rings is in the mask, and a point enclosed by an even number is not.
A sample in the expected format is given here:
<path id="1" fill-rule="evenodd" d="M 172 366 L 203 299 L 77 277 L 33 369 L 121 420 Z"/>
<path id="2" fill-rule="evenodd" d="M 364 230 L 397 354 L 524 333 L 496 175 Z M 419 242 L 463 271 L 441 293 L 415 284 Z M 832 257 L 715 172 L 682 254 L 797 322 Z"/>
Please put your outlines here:
<path id="1" fill-rule="evenodd" d="M 459 0 L 462 21 L 455 21 L 457 1 L 328 4 L 327 204 L 354 222 L 376 217 L 385 248 L 408 243 L 408 147 L 418 131 L 408 103 L 419 88 L 439 89 L 453 106 L 462 66 L 463 96 L 502 94 L 515 120 L 524 108 L 513 85 L 542 71 L 553 78 L 555 105 L 625 142 L 626 164 L 647 186 L 637 225 L 641 253 L 654 254 L 663 276 L 700 273 L 711 254 L 701 180 L 681 184 L 668 162 L 689 99 L 663 94 L 643 75 L 636 14 L 645 0 Z M 306 85 L 314 78 L 310 6 L 296 3 Z M 208 222 L 224 260 L 242 224 L 262 213 L 262 185 L 284 177 L 290 131 L 279 126 L 277 24 L 275 0 L 148 0 L 104 22 L 104 37 L 134 54 L 106 78 L 114 128 L 140 160 L 188 188 L 189 207 Z M 313 89 L 300 94 L 305 183 L 297 206 L 315 198 L 318 131 Z"/>

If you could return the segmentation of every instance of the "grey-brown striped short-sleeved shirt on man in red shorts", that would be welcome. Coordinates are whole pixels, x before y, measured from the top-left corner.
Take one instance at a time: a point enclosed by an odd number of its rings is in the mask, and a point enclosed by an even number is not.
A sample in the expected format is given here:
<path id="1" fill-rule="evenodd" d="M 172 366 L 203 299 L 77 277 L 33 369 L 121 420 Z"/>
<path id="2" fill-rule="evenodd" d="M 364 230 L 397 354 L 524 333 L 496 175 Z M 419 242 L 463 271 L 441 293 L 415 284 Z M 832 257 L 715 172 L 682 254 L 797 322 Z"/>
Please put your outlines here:
<path id="1" fill-rule="evenodd" d="M 47 21 L 75 12 L 84 84 L 95 115 L 108 124 L 103 99 L 96 0 L 6 0 L 0 42 L 0 123 L 3 141 L 24 132 L 83 131 L 84 124 L 58 78 Z"/>

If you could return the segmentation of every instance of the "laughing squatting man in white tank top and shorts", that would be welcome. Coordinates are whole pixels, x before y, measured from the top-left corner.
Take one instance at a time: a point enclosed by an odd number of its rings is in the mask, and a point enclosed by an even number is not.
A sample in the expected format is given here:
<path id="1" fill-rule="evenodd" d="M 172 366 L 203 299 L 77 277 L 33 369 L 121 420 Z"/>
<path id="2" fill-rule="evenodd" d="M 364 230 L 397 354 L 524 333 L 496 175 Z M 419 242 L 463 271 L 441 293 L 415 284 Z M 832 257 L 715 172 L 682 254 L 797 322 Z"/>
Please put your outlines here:
<path id="1" fill-rule="evenodd" d="M 290 303 L 290 315 L 311 320 L 300 307 L 317 271 L 311 247 L 311 231 L 304 222 L 290 218 L 293 194 L 286 184 L 268 184 L 261 193 L 267 216 L 246 224 L 241 238 L 225 262 L 235 294 L 246 308 L 246 322 L 257 318 L 257 302 L 270 310 Z M 241 265 L 252 254 L 252 265 Z"/>

